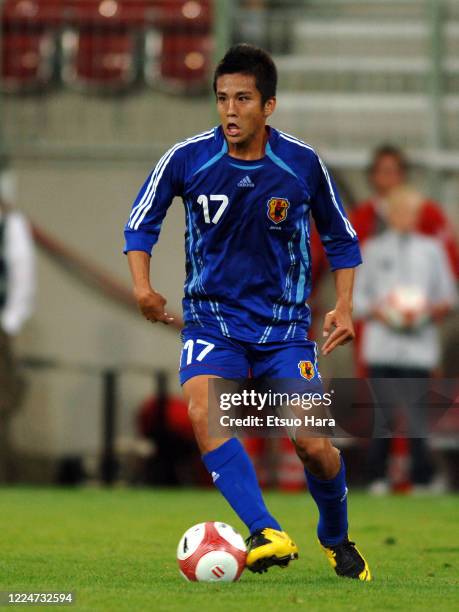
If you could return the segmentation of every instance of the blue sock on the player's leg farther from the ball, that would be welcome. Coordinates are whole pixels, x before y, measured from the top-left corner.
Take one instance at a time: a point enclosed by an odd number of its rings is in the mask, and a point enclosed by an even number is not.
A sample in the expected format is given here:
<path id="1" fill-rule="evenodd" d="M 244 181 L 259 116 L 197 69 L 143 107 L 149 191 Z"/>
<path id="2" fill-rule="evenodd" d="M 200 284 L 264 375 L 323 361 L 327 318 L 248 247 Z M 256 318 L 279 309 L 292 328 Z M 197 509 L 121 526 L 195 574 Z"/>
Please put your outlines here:
<path id="1" fill-rule="evenodd" d="M 340 544 L 347 536 L 347 487 L 344 461 L 331 480 L 320 480 L 305 470 L 309 492 L 319 508 L 317 535 L 324 546 Z"/>

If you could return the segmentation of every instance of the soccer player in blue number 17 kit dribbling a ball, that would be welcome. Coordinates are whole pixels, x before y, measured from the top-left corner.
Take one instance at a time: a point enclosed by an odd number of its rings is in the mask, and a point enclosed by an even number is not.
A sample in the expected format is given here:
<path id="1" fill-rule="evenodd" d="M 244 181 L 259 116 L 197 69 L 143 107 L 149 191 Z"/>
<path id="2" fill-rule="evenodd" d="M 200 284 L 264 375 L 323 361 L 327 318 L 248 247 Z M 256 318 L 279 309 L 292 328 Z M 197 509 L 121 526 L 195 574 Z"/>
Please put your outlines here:
<path id="1" fill-rule="evenodd" d="M 174 196 L 185 205 L 185 328 L 180 380 L 204 464 L 250 531 L 247 566 L 286 566 L 298 549 L 269 512 L 237 438 L 208 433 L 210 378 L 305 377 L 317 380 L 308 339 L 309 217 L 335 277 L 336 306 L 325 317 L 328 355 L 354 336 L 356 233 L 316 152 L 266 125 L 276 107 L 276 67 L 262 49 L 232 47 L 216 68 L 221 124 L 173 146 L 141 188 L 125 228 L 134 293 L 143 315 L 170 323 L 165 298 L 150 284 L 150 252 Z M 301 366 L 308 364 L 308 371 Z M 343 459 L 328 438 L 294 440 L 319 510 L 318 537 L 340 576 L 370 580 L 348 538 Z"/>

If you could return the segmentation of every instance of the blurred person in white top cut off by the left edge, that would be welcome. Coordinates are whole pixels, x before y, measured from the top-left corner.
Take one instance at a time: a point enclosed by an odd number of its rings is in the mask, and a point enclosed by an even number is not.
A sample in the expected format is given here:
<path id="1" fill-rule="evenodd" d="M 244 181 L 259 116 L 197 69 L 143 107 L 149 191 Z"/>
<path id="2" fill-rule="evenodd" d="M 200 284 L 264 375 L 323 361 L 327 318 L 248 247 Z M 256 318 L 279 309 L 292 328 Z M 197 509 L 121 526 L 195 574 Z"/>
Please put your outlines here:
<path id="1" fill-rule="evenodd" d="M 25 217 L 0 202 L 0 482 L 16 479 L 11 421 L 24 395 L 13 338 L 33 310 L 35 256 Z"/>

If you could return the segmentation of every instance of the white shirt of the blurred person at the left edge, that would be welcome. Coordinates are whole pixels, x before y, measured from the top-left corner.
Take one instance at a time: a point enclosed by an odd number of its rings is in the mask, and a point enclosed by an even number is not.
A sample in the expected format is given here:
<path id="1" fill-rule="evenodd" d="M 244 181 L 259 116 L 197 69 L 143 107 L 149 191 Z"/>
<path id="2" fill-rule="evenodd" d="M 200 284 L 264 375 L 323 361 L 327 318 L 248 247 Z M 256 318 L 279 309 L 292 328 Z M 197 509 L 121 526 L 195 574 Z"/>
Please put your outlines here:
<path id="1" fill-rule="evenodd" d="M 0 324 L 7 334 L 17 334 L 30 317 L 36 289 L 35 250 L 29 224 L 16 211 L 4 214 L 4 256 L 7 268 L 6 303 L 0 311 Z"/>

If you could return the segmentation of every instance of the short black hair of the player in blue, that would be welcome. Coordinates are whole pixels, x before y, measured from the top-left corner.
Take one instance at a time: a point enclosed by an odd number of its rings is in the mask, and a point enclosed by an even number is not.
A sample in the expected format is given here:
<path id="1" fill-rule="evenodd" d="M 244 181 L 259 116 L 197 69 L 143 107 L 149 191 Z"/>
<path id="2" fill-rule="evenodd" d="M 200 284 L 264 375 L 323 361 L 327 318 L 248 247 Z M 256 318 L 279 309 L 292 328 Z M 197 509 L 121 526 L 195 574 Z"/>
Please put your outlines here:
<path id="1" fill-rule="evenodd" d="M 277 88 L 277 69 L 271 56 L 264 49 L 240 43 L 231 47 L 220 61 L 214 73 L 214 93 L 217 93 L 217 79 L 224 74 L 249 74 L 255 77 L 255 84 L 264 104 L 274 98 Z"/>

